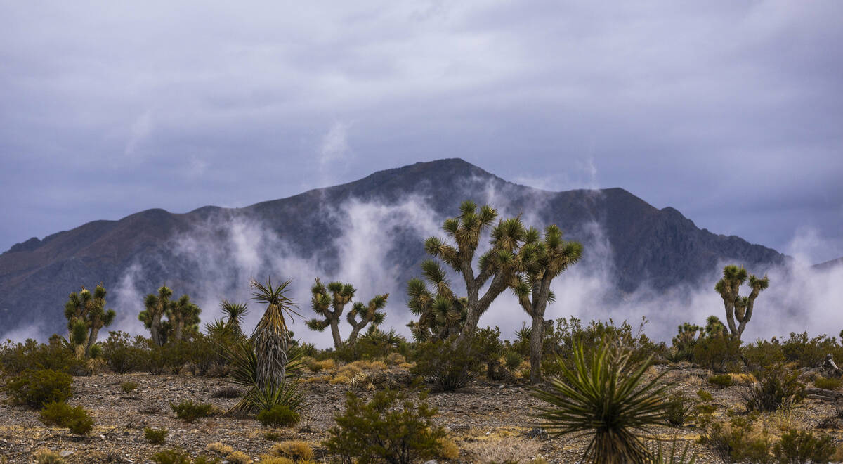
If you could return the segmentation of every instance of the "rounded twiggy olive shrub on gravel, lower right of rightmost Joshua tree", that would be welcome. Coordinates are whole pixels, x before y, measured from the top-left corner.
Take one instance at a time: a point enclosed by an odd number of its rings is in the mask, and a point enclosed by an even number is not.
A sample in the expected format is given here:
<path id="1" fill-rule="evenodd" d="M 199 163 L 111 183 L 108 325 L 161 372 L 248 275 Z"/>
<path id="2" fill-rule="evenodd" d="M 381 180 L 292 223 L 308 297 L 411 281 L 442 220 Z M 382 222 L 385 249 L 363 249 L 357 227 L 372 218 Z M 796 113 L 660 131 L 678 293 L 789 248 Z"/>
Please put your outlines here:
<path id="1" fill-rule="evenodd" d="M 799 382 L 799 373 L 771 367 L 755 374 L 759 379 L 749 384 L 741 393 L 748 411 L 776 411 L 776 409 L 800 402 L 805 397 L 805 386 Z"/>

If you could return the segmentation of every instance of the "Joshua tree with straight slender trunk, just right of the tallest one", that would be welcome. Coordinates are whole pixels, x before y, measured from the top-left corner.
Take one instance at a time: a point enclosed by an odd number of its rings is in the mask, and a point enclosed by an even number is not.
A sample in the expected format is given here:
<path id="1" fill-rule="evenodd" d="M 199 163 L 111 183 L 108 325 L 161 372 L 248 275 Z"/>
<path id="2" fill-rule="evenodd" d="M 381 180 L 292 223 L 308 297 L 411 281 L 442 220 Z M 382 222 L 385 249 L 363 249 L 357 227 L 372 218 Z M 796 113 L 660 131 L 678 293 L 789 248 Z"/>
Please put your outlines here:
<path id="1" fill-rule="evenodd" d="M 545 229 L 545 238 L 540 240 L 539 231 L 533 228 L 524 235 L 524 245 L 518 251 L 520 266 L 518 277 L 510 286 L 518 297 L 518 303 L 533 320 L 530 330 L 530 383 L 541 378 L 541 348 L 545 337 L 545 309 L 553 300 L 550 283 L 569 266 L 576 264 L 583 255 L 583 245 L 575 241 L 562 240 L 562 231 L 554 224 Z"/>

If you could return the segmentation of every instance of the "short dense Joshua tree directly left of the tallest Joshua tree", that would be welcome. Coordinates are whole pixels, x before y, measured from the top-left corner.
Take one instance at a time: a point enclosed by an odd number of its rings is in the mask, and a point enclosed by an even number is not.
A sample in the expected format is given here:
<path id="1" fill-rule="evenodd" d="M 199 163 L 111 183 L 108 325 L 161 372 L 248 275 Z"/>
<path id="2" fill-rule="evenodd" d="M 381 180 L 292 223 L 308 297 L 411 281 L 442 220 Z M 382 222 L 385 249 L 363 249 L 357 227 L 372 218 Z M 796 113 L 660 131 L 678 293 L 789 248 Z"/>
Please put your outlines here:
<path id="1" fill-rule="evenodd" d="M 408 305 L 418 322 L 407 324 L 416 341 L 424 342 L 431 338 L 443 340 L 459 334 L 465 324 L 468 299 L 457 298 L 451 290 L 448 278 L 438 262 L 427 260 L 421 263 L 421 272 L 430 283 L 420 278 L 413 278 L 407 283 Z"/>

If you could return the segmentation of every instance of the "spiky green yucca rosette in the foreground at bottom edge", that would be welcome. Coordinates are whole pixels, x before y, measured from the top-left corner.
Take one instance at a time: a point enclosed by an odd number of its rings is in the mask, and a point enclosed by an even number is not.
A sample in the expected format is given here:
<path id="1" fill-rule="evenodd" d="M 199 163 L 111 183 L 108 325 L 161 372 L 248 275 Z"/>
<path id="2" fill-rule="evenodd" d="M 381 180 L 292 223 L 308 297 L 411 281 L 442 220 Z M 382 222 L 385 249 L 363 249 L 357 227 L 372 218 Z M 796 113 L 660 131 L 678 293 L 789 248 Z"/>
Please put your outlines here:
<path id="1" fill-rule="evenodd" d="M 662 375 L 644 381 L 650 359 L 630 363 L 610 343 L 601 343 L 590 357 L 582 344 L 574 348 L 573 369 L 559 361 L 561 378 L 550 380 L 550 391 L 533 396 L 550 407 L 539 407 L 536 417 L 550 434 L 593 434 L 583 461 L 593 463 L 645 462 L 652 460 L 642 437 L 647 429 L 664 420 L 658 386 Z"/>

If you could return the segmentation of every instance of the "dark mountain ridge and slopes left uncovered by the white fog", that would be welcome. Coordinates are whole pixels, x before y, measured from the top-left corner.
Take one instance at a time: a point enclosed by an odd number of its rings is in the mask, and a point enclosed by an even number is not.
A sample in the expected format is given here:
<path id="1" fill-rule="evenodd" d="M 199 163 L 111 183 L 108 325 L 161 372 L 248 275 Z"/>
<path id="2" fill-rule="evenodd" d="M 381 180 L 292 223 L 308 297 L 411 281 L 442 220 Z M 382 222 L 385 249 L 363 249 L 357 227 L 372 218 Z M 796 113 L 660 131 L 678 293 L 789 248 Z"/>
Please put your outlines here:
<path id="1" fill-rule="evenodd" d="M 341 259 L 332 244 L 342 230 L 325 214 L 329 206 L 352 198 L 398 202 L 412 195 L 424 198 L 444 219 L 455 215 L 464 199 L 486 202 L 489 192 L 494 192 L 492 206 L 524 213 L 525 219 L 537 219 L 537 226 L 556 223 L 569 240 L 592 240 L 596 225 L 603 243 L 609 245 L 611 259 L 604 265 L 611 267 L 620 294 L 645 283 L 657 290 L 695 283 L 704 274 L 716 272 L 724 261 L 763 273 L 766 267 L 786 260 L 777 251 L 740 237 L 698 229 L 676 209 L 653 208 L 621 188 L 546 192 L 504 181 L 462 159 L 441 159 L 382 170 L 359 181 L 246 208 L 204 207 L 190 213 L 149 209 L 117 221 L 94 221 L 44 240 L 26 240 L 0 255 L 0 327 L 40 321 L 48 330 L 63 332 L 62 306 L 67 294 L 83 284 L 104 283 L 112 299 L 111 290 L 133 264 L 140 269 L 135 282 L 145 292 L 162 282 L 179 292 L 195 291 L 200 272 L 195 264 L 172 253 L 171 239 L 203 230 L 213 240 L 216 232 L 207 224 L 215 221 L 258 221 L 302 256 L 319 256 L 330 266 Z M 391 262 L 384 265 L 395 265 L 402 279 L 417 276 L 426 257 L 421 240 L 400 229 L 391 236 L 397 246 L 389 254 Z M 588 252 L 587 246 L 586 259 Z M 242 287 L 244 283 L 235 284 Z M 392 306 L 400 305 L 402 298 L 390 299 Z"/>

